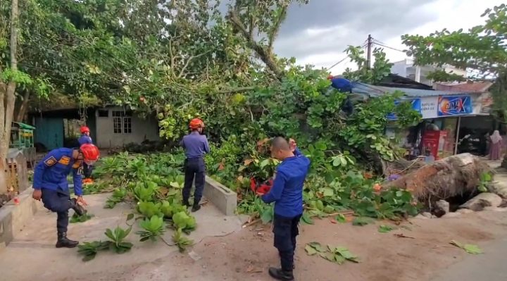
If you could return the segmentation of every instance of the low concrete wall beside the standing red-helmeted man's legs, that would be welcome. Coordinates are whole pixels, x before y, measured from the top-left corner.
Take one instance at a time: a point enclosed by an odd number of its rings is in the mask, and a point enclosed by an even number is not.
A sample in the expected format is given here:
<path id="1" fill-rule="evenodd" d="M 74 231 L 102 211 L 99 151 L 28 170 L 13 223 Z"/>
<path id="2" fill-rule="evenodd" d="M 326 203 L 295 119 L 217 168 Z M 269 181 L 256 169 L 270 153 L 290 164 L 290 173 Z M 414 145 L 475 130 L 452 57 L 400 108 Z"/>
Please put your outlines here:
<path id="1" fill-rule="evenodd" d="M 237 206 L 236 192 L 206 175 L 203 193 L 206 199 L 211 201 L 225 216 L 234 216 Z"/>

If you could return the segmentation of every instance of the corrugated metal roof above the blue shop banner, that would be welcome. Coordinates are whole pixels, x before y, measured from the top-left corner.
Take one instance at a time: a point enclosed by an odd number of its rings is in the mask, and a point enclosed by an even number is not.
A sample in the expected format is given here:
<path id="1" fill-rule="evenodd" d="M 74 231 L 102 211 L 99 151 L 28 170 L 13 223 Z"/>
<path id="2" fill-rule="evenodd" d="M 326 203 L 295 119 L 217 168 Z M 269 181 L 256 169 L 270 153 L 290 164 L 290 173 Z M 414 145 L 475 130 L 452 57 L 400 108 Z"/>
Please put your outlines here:
<path id="1" fill-rule="evenodd" d="M 423 96 L 451 96 L 457 94 L 476 94 L 473 92 L 449 92 L 449 91 L 432 91 L 427 89 L 406 89 L 406 88 L 393 88 L 373 86 L 361 82 L 352 83 L 352 92 L 356 94 L 367 94 L 368 96 L 381 96 L 389 92 L 401 91 L 406 96 L 423 97 Z"/>

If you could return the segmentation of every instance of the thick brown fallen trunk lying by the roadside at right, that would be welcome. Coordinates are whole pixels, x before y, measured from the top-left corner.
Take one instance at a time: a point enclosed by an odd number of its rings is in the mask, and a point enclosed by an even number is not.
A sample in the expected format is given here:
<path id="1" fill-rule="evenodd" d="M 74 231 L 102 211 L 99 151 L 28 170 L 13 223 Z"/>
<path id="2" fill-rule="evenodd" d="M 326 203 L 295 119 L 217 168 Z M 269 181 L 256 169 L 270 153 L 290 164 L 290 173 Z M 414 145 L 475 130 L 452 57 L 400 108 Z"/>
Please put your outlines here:
<path id="1" fill-rule="evenodd" d="M 487 163 L 472 154 L 449 156 L 389 182 L 384 187 L 410 191 L 430 207 L 439 199 L 474 194 L 481 175 L 491 171 Z"/>

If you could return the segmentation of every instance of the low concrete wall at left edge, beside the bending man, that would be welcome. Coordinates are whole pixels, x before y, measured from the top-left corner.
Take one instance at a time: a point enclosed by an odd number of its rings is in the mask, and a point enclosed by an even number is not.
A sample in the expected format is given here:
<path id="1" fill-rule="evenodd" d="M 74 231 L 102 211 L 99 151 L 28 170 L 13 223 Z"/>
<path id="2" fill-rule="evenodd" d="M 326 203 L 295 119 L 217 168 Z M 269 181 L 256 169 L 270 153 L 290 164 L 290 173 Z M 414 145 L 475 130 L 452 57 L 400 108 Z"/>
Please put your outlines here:
<path id="1" fill-rule="evenodd" d="M 18 195 L 19 204 L 8 201 L 0 208 L 0 249 L 12 242 L 28 220 L 39 210 L 42 204 L 32 199 L 32 188 Z"/>

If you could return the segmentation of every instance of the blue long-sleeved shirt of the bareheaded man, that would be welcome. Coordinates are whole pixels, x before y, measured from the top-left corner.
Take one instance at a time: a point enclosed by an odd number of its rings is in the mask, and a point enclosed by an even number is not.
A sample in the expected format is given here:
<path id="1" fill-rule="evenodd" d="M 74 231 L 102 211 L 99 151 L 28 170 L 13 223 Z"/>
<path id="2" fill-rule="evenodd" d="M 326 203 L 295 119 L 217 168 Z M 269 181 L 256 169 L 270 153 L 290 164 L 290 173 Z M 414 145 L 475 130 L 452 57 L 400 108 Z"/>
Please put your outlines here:
<path id="1" fill-rule="evenodd" d="M 275 202 L 275 213 L 294 218 L 303 213 L 303 184 L 310 168 L 310 159 L 294 151 L 294 157 L 285 158 L 277 167 L 273 187 L 262 199 L 265 203 Z"/>

